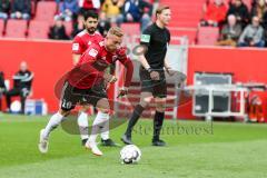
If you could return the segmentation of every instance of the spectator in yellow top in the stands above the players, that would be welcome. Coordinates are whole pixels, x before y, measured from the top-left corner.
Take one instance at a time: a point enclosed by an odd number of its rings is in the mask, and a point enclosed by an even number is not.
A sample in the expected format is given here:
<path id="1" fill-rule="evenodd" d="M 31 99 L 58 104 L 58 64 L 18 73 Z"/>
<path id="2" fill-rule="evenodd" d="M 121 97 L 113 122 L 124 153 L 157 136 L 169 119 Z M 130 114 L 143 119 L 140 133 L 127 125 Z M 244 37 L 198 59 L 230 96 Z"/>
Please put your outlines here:
<path id="1" fill-rule="evenodd" d="M 116 22 L 120 13 L 120 8 L 123 6 L 125 0 L 106 0 L 102 4 L 102 11 L 111 22 Z"/>

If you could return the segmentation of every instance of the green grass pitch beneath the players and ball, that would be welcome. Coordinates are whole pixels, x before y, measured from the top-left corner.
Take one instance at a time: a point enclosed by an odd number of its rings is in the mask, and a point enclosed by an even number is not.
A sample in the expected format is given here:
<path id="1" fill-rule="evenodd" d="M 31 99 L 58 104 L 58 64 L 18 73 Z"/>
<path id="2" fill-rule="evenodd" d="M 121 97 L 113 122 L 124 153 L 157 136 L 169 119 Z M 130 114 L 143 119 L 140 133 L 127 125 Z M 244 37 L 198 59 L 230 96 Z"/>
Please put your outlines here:
<path id="1" fill-rule="evenodd" d="M 165 122 L 168 146 L 150 146 L 151 120 L 140 120 L 134 141 L 142 151 L 138 165 L 121 165 L 120 148 L 96 157 L 78 135 L 62 127 L 52 132 L 47 155 L 38 151 L 39 130 L 49 117 L 0 113 L 0 178 L 266 178 L 267 125 Z M 111 130 L 119 138 L 126 123 Z"/>

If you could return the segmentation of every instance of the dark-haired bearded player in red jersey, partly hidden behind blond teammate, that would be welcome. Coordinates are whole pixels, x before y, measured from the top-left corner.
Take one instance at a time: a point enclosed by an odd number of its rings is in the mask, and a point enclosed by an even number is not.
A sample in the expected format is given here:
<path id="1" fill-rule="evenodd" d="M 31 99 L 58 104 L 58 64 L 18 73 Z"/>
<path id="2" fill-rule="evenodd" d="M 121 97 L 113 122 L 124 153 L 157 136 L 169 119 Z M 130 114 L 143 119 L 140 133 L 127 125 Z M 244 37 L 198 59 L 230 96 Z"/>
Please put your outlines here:
<path id="1" fill-rule="evenodd" d="M 102 36 L 97 31 L 98 13 L 93 10 L 86 11 L 83 13 L 86 29 L 79 32 L 72 42 L 72 58 L 73 63 L 77 65 L 81 55 L 92 44 L 99 43 L 103 40 Z M 81 136 L 81 144 L 85 146 L 88 135 L 88 113 L 89 106 L 82 106 L 78 116 L 78 126 Z M 95 122 L 98 122 L 97 118 L 101 116 L 101 111 L 98 111 Z M 109 138 L 109 122 L 102 122 L 101 126 L 101 145 L 102 146 L 116 146 L 112 139 Z"/>

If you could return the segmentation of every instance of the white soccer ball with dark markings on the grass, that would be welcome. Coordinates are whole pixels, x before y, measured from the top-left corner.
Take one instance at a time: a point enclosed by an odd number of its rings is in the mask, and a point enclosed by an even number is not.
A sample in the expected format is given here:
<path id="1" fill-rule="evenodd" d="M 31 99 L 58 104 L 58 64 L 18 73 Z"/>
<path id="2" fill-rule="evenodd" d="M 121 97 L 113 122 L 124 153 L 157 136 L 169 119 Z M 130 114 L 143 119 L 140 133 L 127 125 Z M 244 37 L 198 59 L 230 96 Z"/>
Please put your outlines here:
<path id="1" fill-rule="evenodd" d="M 137 164 L 141 159 L 141 150 L 135 145 L 125 146 L 120 150 L 122 164 Z"/>

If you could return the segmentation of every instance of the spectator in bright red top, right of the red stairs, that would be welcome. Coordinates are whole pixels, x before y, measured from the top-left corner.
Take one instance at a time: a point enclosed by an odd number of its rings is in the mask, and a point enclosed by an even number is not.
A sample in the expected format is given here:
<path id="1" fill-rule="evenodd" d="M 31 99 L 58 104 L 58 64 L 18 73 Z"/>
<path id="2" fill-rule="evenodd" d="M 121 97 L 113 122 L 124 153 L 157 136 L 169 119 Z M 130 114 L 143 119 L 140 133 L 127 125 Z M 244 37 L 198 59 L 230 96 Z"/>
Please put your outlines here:
<path id="1" fill-rule="evenodd" d="M 226 18 L 226 12 L 227 7 L 222 0 L 215 0 L 214 2 L 209 2 L 205 12 L 204 20 L 201 20 L 200 24 L 221 27 Z"/>

